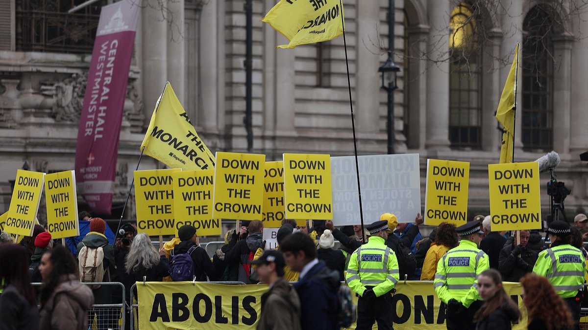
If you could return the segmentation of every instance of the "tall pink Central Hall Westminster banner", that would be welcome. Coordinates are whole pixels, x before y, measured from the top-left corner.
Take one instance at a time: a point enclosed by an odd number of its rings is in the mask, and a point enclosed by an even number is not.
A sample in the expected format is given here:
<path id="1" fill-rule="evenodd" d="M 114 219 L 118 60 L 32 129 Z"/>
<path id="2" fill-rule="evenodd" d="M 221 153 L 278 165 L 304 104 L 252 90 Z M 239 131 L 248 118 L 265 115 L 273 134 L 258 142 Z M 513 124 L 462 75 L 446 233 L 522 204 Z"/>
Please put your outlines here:
<path id="1" fill-rule="evenodd" d="M 95 213 L 111 214 L 122 108 L 140 0 L 103 6 L 79 120 L 75 173 L 78 191 Z"/>

